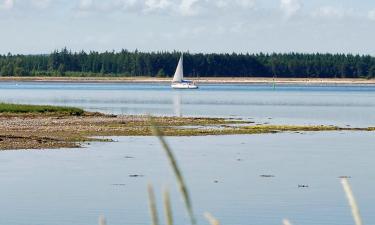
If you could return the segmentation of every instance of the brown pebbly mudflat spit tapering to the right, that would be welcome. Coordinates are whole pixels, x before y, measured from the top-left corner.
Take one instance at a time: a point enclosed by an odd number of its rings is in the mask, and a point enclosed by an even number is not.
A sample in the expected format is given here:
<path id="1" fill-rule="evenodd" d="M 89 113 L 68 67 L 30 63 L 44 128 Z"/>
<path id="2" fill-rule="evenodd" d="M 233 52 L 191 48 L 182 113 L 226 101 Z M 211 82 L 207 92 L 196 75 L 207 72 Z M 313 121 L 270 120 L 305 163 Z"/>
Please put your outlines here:
<path id="1" fill-rule="evenodd" d="M 153 117 L 165 136 L 259 134 L 277 132 L 374 131 L 369 128 L 255 124 L 225 118 Z M 0 113 L 0 150 L 74 148 L 109 136 L 150 136 L 150 117 L 84 112 Z M 99 137 L 99 138 L 98 138 Z"/>

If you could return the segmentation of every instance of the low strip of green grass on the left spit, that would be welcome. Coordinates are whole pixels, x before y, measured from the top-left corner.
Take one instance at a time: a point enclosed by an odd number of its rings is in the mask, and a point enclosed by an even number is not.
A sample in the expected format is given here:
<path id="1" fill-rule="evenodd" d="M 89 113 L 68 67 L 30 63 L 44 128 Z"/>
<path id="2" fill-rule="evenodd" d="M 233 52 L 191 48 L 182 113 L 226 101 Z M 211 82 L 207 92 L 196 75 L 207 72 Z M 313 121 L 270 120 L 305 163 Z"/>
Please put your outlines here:
<path id="1" fill-rule="evenodd" d="M 79 116 L 84 111 L 75 107 L 0 103 L 0 113 L 59 113 Z"/>

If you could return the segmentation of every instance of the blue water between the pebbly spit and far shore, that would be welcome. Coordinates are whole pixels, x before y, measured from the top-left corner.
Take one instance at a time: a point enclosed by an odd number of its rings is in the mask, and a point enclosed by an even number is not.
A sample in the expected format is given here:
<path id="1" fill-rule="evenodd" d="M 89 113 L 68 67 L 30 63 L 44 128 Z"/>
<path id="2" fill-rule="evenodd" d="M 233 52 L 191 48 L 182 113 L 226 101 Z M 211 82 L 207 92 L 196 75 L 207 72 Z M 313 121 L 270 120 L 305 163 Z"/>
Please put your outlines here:
<path id="1" fill-rule="evenodd" d="M 114 114 L 240 117 L 274 124 L 375 125 L 375 86 L 1 82 L 0 101 L 83 107 Z"/>

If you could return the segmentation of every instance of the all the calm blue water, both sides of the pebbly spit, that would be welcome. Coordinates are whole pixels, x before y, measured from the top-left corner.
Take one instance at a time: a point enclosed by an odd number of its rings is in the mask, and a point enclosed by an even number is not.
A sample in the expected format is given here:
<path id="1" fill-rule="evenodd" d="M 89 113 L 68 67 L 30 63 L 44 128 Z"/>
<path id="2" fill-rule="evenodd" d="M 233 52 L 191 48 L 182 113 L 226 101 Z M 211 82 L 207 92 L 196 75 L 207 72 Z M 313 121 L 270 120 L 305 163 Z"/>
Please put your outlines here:
<path id="1" fill-rule="evenodd" d="M 0 101 L 79 106 L 113 114 L 223 116 L 274 124 L 375 125 L 374 86 L 0 83 Z M 150 224 L 168 188 L 176 224 L 188 224 L 155 137 L 113 137 L 81 149 L 0 152 L 0 224 Z M 198 224 L 351 225 L 339 176 L 349 176 L 365 224 L 375 224 L 375 133 L 303 132 L 168 137 Z M 137 175 L 137 176 L 134 176 Z M 262 177 L 261 175 L 272 175 Z M 299 187 L 305 185 L 308 187 Z"/>

